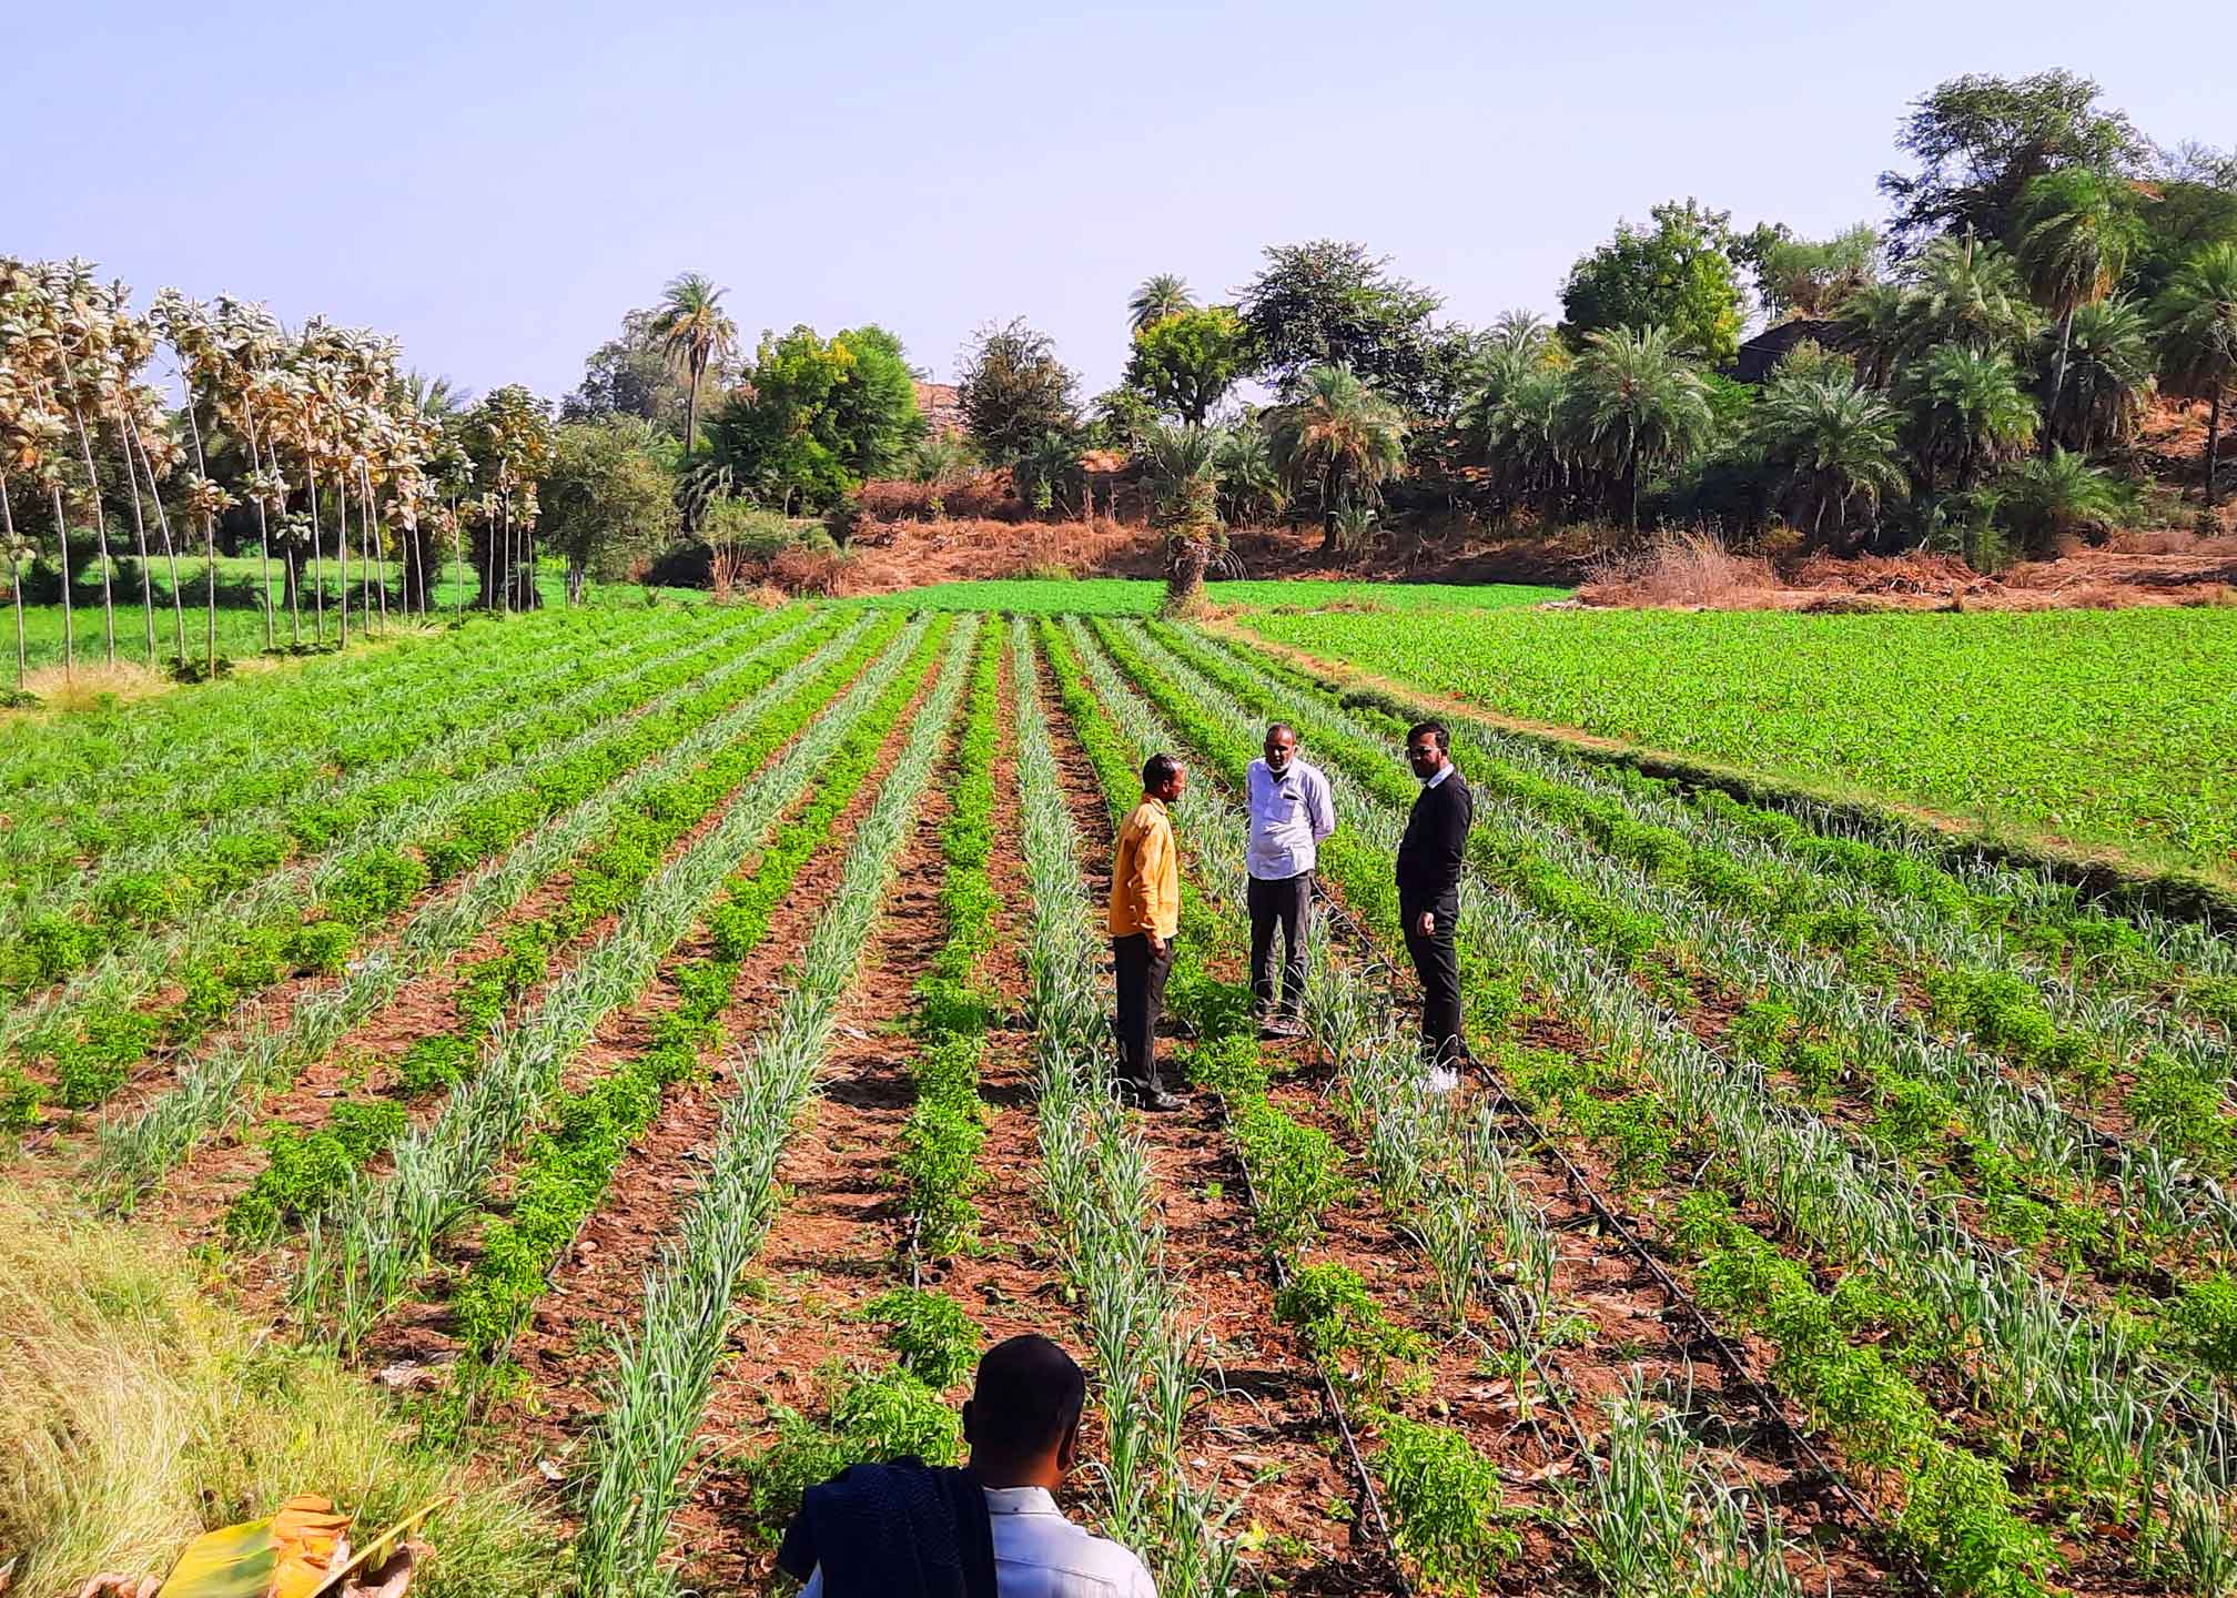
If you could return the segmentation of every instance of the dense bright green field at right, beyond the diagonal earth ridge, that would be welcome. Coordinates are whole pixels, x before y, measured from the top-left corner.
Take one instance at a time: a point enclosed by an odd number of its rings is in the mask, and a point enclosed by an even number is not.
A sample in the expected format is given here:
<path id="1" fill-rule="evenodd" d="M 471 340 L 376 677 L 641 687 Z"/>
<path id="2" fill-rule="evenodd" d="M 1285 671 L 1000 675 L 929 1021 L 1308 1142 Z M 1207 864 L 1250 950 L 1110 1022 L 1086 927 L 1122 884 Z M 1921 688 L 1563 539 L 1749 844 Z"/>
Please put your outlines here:
<path id="1" fill-rule="evenodd" d="M 1559 611 L 1250 627 L 1564 727 L 1951 817 L 2237 864 L 2237 611 Z"/>

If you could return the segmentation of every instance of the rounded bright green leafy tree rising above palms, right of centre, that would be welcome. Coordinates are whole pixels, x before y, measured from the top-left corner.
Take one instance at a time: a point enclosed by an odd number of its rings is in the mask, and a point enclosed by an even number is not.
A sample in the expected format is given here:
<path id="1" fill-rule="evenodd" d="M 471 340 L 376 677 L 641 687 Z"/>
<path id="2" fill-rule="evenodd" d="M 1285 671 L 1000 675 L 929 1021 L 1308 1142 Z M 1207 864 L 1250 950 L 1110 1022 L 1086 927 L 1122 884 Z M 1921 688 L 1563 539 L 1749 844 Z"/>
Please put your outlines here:
<path id="1" fill-rule="evenodd" d="M 1729 360 L 1740 347 L 1747 298 L 1734 266 L 1731 213 L 1698 201 L 1653 208 L 1653 226 L 1615 226 L 1615 237 L 1568 269 L 1561 331 L 1660 327 L 1678 354 Z"/>

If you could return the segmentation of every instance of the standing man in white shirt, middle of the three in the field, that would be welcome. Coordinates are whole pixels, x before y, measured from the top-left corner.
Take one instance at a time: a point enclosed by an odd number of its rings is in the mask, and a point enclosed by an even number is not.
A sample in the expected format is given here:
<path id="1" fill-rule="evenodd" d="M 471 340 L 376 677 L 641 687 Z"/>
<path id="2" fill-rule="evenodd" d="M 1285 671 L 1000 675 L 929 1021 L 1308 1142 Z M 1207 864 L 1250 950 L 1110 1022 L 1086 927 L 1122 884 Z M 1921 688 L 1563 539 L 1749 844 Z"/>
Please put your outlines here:
<path id="1" fill-rule="evenodd" d="M 1304 938 L 1313 918 L 1313 868 L 1320 842 L 1335 830 L 1329 779 L 1297 759 L 1297 730 L 1266 727 L 1266 756 L 1248 772 L 1250 844 L 1244 864 L 1250 909 L 1250 1009 L 1268 1036 L 1297 1036 L 1304 1007 Z M 1282 983 L 1275 987 L 1273 938 L 1282 933 Z"/>

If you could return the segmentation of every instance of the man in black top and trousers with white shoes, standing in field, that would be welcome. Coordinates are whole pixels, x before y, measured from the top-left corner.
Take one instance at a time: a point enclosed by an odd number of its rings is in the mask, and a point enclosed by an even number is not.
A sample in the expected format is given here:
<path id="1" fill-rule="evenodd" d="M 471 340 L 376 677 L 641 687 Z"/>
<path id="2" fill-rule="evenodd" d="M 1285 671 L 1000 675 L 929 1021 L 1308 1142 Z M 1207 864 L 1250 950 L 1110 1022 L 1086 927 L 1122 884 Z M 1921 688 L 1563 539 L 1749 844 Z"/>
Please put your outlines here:
<path id="1" fill-rule="evenodd" d="M 1461 859 L 1476 797 L 1452 765 L 1452 734 L 1441 723 L 1409 727 L 1405 756 L 1420 777 L 1420 795 L 1398 842 L 1398 920 L 1420 976 L 1420 1056 L 1429 1065 L 1429 1085 L 1447 1092 L 1467 1059 L 1467 1043 L 1461 1041 L 1461 956 L 1452 933 L 1461 920 Z"/>

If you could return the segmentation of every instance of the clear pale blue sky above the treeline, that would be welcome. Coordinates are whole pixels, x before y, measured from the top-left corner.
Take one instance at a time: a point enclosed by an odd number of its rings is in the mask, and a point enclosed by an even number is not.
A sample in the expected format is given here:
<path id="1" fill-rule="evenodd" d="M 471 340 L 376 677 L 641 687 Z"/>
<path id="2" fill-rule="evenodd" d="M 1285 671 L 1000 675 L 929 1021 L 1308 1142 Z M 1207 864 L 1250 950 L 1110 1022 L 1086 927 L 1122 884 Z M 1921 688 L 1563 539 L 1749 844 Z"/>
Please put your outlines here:
<path id="1" fill-rule="evenodd" d="M 476 392 L 557 398 L 682 269 L 747 345 L 875 320 L 951 376 L 1025 316 L 1094 392 L 1143 275 L 1226 295 L 1266 244 L 1360 239 L 1485 322 L 1660 199 L 1877 222 L 1906 101 L 1962 72 L 2237 143 L 2237 11 L 2181 11 L 18 2 L 0 248 L 385 329 Z"/>

